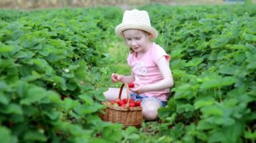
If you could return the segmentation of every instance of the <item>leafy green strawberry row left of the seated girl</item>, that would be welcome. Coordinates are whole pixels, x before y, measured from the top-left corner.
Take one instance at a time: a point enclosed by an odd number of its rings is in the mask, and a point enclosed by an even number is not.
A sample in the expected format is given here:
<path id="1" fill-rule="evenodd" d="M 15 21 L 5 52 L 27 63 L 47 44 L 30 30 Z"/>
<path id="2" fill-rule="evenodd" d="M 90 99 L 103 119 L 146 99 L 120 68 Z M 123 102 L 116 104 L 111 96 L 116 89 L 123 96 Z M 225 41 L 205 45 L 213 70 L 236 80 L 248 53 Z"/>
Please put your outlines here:
<path id="1" fill-rule="evenodd" d="M 0 11 L 1 142 L 89 142 L 121 130 L 101 122 L 104 106 L 95 102 L 106 90 L 96 86 L 104 80 L 96 67 L 106 64 L 106 38 L 121 12 Z"/>

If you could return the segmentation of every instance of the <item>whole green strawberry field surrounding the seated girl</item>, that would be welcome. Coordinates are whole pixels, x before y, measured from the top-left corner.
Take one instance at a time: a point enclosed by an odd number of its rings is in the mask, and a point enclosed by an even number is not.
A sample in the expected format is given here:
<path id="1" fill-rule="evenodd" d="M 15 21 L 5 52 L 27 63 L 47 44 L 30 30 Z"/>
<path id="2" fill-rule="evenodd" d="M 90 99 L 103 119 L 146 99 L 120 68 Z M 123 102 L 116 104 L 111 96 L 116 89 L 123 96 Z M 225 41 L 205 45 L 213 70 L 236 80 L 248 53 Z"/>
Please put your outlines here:
<path id="1" fill-rule="evenodd" d="M 1 142 L 255 142 L 256 5 L 146 5 L 171 56 L 159 119 L 102 122 L 110 73 L 128 75 L 119 7 L 0 10 Z"/>

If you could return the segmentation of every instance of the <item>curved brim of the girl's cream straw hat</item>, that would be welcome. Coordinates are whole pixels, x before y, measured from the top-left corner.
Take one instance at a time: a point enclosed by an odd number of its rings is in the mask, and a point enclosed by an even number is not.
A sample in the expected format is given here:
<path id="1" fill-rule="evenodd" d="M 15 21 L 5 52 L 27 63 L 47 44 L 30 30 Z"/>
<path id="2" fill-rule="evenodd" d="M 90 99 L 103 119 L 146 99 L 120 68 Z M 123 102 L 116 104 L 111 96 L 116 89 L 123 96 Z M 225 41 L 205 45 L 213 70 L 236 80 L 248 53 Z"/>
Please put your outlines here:
<path id="1" fill-rule="evenodd" d="M 152 39 L 155 39 L 158 37 L 158 32 L 156 31 L 155 28 L 148 26 L 146 24 L 143 24 L 143 23 L 136 23 L 136 24 L 121 23 L 115 28 L 115 32 L 119 37 L 124 38 L 123 31 L 129 30 L 129 29 L 137 29 L 137 30 L 146 31 L 146 32 L 152 34 Z"/>

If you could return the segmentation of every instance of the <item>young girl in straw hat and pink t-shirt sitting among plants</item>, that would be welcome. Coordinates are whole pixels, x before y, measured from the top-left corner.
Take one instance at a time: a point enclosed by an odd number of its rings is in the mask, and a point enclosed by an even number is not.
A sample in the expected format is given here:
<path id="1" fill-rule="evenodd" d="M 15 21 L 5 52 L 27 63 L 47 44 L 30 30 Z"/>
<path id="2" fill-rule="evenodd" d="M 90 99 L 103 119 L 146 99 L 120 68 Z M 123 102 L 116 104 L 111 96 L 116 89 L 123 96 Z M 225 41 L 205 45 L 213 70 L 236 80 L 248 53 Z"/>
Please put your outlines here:
<path id="1" fill-rule="evenodd" d="M 141 101 L 145 120 L 155 120 L 158 108 L 166 105 L 169 88 L 174 84 L 169 67 L 170 56 L 151 41 L 157 38 L 158 32 L 152 28 L 147 11 L 125 11 L 123 21 L 115 28 L 115 32 L 130 48 L 127 62 L 131 66 L 131 75 L 113 73 L 111 80 L 113 83 L 134 83 L 130 97 Z M 104 92 L 106 100 L 117 99 L 119 90 L 109 88 Z M 126 98 L 125 93 L 123 90 L 122 98 Z"/>

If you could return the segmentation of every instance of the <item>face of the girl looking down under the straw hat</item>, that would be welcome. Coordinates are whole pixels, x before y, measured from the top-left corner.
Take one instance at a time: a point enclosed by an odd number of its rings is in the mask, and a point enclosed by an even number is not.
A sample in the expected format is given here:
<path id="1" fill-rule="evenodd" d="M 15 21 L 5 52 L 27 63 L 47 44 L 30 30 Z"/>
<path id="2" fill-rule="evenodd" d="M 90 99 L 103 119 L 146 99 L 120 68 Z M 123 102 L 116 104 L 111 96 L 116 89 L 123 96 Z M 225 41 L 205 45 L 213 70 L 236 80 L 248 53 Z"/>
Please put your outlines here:
<path id="1" fill-rule="evenodd" d="M 150 48 L 150 34 L 142 30 L 125 30 L 123 31 L 125 41 L 128 46 L 134 51 L 144 53 Z"/>

